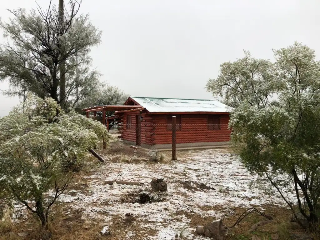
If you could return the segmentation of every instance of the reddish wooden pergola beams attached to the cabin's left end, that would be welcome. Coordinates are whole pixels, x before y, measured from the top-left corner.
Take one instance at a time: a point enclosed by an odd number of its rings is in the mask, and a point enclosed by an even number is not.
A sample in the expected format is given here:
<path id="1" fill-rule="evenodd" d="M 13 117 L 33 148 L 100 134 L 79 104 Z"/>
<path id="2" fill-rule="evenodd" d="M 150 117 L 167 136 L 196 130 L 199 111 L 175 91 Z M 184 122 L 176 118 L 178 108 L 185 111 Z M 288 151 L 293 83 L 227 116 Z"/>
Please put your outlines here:
<path id="1" fill-rule="evenodd" d="M 94 106 L 90 108 L 84 108 L 82 111 L 85 112 L 86 117 L 89 117 L 89 113 L 93 112 L 93 116 L 96 116 L 97 112 L 102 112 L 102 124 L 107 126 L 109 131 L 109 121 L 114 120 L 115 116 L 106 116 L 107 111 L 124 111 L 142 108 L 142 106 L 137 105 L 105 105 L 105 106 Z M 107 121 L 106 121 L 107 120 Z M 108 121 L 109 120 L 109 121 Z"/>

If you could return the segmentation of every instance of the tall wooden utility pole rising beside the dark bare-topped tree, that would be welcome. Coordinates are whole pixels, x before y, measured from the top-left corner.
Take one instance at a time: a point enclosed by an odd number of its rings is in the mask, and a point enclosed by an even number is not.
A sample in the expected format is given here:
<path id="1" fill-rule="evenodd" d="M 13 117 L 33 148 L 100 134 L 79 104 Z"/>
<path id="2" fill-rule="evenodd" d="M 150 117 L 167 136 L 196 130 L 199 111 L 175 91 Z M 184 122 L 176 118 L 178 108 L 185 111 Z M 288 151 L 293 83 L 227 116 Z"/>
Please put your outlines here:
<path id="1" fill-rule="evenodd" d="M 63 10 L 64 10 L 63 0 L 59 0 L 59 35 L 60 36 L 63 34 L 62 32 L 63 17 L 64 17 Z M 61 45 L 60 45 L 60 52 L 61 52 Z M 63 53 L 61 52 L 59 96 L 60 96 L 60 107 L 64 110 L 65 95 L 66 95 L 66 92 L 65 92 L 66 78 L 65 78 L 65 62 L 62 58 L 63 58 Z"/>

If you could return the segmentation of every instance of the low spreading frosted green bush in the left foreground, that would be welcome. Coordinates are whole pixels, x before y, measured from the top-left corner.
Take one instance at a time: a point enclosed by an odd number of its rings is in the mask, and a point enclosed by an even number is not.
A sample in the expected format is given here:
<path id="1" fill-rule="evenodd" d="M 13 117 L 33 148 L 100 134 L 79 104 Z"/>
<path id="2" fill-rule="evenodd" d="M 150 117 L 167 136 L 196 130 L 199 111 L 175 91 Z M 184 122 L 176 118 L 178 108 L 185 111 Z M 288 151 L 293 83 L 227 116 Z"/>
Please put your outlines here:
<path id="1" fill-rule="evenodd" d="M 97 121 L 64 113 L 52 98 L 30 96 L 24 112 L 17 107 L 0 118 L 0 129 L 0 196 L 24 204 L 42 226 L 74 175 L 66 167 L 81 164 L 108 134 Z"/>

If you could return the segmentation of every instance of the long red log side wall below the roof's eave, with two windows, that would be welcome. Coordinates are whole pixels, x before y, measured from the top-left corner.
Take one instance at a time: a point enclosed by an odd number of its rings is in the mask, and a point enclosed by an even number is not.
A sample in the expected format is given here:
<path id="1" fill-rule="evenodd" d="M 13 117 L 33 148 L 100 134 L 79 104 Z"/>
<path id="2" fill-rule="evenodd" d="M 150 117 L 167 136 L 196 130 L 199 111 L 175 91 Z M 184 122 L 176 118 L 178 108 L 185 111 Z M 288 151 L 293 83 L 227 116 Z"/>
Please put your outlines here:
<path id="1" fill-rule="evenodd" d="M 154 144 L 172 143 L 172 132 L 166 128 L 167 115 L 154 115 L 156 123 Z M 220 130 L 208 130 L 207 115 L 182 115 L 181 130 L 176 132 L 176 143 L 224 142 L 230 140 L 229 116 L 220 115 Z"/>

